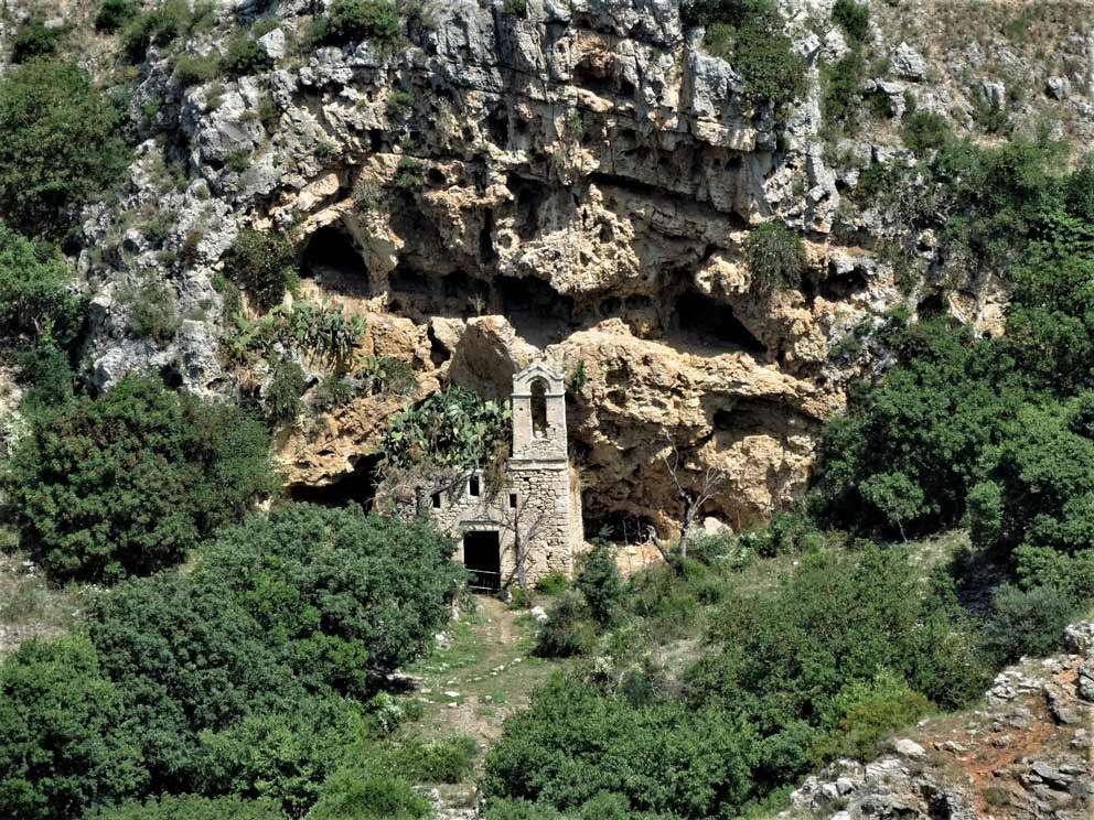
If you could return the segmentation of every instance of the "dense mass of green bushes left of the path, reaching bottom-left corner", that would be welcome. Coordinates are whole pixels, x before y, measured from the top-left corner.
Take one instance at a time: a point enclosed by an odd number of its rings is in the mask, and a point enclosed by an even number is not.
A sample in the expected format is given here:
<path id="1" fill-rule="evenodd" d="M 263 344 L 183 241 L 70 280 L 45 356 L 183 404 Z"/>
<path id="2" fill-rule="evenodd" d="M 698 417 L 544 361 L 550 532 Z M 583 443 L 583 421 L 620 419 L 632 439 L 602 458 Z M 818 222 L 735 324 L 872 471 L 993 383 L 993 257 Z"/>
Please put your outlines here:
<path id="1" fill-rule="evenodd" d="M 89 641 L 31 641 L 0 666 L 0 812 L 427 817 L 411 780 L 466 776 L 475 744 L 380 742 L 367 698 L 448 618 L 451 553 L 426 524 L 287 505 L 190 572 L 104 591 Z M 159 792 L 203 797 L 105 808 Z M 206 799 L 226 794 L 243 799 Z"/>

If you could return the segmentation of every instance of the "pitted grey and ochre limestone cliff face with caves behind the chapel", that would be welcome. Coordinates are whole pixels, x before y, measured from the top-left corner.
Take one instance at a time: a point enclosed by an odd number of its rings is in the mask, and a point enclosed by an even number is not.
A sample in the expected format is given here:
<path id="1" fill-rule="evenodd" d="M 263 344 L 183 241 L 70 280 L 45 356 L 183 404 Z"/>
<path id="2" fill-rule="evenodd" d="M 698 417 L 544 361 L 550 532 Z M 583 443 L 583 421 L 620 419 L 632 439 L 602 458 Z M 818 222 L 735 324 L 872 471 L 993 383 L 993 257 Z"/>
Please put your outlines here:
<path id="1" fill-rule="evenodd" d="M 418 397 L 449 382 L 504 395 L 537 356 L 580 368 L 570 430 L 592 520 L 671 527 L 671 443 L 689 475 L 729 476 L 705 514 L 737 527 L 771 512 L 806 485 L 820 422 L 869 366 L 837 344 L 905 296 L 871 250 L 884 218 L 848 212 L 858 171 L 833 168 L 818 138 L 817 62 L 846 50 L 830 6 L 784 3 L 814 82 L 777 116 L 742 101 L 741 75 L 673 0 L 530 0 L 526 19 L 427 2 L 397 46 L 318 50 L 300 45 L 312 7 L 282 2 L 260 41 L 274 71 L 186 88 L 153 51 L 130 102 L 143 142 L 129 192 L 85 222 L 90 378 L 158 368 L 234 389 L 213 283 L 239 228 L 279 229 L 300 244 L 304 292 L 365 316 L 362 353 L 412 363 Z M 186 48 L 208 53 L 247 14 L 225 7 Z M 921 88 L 943 106 L 915 50 L 891 51 L 901 99 Z M 912 162 L 869 139 L 836 153 Z M 170 215 L 165 238 L 135 214 Z M 752 287 L 742 247 L 769 219 L 806 239 L 802 290 Z M 178 293 L 168 344 L 135 338 L 114 295 L 138 270 Z M 947 299 L 998 321 L 990 283 Z M 415 398 L 361 398 L 282 431 L 290 483 L 352 476 Z"/>

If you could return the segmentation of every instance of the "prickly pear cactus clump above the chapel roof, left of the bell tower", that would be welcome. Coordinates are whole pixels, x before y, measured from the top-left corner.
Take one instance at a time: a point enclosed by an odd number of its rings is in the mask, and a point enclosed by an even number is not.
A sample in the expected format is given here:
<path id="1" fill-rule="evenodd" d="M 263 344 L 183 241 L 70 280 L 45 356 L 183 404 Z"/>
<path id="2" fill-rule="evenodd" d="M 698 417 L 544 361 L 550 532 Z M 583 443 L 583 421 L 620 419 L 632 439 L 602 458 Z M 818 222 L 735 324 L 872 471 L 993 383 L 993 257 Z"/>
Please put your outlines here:
<path id="1" fill-rule="evenodd" d="M 390 467 L 482 465 L 504 445 L 510 424 L 508 407 L 450 387 L 392 418 L 384 455 Z"/>

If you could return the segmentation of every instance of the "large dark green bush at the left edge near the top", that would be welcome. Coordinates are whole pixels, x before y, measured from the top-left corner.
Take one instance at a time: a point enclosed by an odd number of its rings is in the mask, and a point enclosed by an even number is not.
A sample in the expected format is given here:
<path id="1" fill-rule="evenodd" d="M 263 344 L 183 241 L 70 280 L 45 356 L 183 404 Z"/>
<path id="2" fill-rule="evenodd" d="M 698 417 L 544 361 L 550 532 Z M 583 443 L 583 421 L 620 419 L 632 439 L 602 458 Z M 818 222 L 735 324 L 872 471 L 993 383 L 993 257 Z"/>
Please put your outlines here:
<path id="1" fill-rule="evenodd" d="M 129 163 L 121 116 L 75 65 L 35 60 L 0 79 L 0 215 L 61 236 L 75 211 Z"/>

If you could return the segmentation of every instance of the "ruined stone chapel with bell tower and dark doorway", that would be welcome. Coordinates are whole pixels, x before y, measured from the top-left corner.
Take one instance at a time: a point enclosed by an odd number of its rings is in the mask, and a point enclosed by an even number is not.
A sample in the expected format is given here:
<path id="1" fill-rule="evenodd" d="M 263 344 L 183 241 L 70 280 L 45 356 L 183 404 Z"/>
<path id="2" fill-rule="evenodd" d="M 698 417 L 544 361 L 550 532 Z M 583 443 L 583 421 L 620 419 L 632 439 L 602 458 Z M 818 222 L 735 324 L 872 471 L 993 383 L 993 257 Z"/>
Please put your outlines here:
<path id="1" fill-rule="evenodd" d="M 401 512 L 429 515 L 459 540 L 455 558 L 474 573 L 473 586 L 495 591 L 569 575 L 584 539 L 562 377 L 540 363 L 513 377 L 513 451 L 501 476 L 476 470 L 437 485 L 419 487 Z"/>

